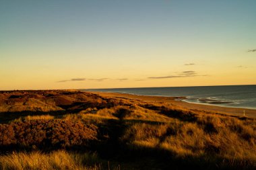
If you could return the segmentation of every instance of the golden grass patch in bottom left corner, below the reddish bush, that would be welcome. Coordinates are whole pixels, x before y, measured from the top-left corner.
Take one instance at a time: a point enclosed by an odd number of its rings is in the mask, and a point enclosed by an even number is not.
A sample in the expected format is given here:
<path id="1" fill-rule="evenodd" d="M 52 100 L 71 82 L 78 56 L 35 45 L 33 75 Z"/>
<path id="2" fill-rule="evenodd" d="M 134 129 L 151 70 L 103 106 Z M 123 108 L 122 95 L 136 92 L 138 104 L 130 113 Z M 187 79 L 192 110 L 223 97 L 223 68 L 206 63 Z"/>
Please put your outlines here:
<path id="1" fill-rule="evenodd" d="M 0 169 L 101 169 L 95 154 L 67 153 L 11 153 L 0 156 Z"/>

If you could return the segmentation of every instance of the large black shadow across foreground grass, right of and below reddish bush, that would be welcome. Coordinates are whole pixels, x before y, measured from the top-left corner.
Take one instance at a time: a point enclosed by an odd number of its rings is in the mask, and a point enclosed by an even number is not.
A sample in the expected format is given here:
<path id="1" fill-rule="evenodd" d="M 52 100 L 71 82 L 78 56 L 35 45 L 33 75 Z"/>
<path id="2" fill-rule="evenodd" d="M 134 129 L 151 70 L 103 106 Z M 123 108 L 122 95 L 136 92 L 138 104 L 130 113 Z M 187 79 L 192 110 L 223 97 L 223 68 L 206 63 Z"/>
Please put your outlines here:
<path id="1" fill-rule="evenodd" d="M 103 161 L 111 165 L 121 165 L 121 169 L 255 169 L 255 163 L 247 160 L 226 160 L 214 151 L 195 155 L 179 155 L 160 146 L 138 146 L 121 140 L 130 124 L 159 124 L 154 121 L 123 120 L 120 111 L 119 120 L 108 120 L 98 125 L 98 140 L 90 140 L 86 145 L 73 145 L 64 149 L 76 153 L 97 153 Z M 164 134 L 163 137 L 169 134 Z M 105 137 L 108 136 L 108 137 Z M 1 151 L 41 151 L 49 153 L 60 146 L 37 147 L 9 145 Z"/>

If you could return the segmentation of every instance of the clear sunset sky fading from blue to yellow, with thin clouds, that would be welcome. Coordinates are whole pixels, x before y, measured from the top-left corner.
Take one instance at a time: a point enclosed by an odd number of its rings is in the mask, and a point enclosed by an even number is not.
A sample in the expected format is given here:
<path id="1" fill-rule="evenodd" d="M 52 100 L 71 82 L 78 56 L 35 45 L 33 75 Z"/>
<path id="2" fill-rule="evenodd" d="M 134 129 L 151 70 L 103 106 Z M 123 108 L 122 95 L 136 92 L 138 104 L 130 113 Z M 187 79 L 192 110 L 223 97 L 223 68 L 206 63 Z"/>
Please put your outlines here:
<path id="1" fill-rule="evenodd" d="M 0 90 L 256 84 L 255 0 L 0 0 Z"/>

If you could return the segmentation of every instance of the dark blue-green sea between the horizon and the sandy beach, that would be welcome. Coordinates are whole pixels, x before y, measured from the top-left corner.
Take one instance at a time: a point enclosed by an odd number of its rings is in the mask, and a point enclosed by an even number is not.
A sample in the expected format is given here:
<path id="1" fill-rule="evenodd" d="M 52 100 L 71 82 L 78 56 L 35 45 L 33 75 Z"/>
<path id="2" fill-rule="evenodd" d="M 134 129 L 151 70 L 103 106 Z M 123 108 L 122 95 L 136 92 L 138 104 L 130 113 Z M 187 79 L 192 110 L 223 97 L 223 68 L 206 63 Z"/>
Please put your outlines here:
<path id="1" fill-rule="evenodd" d="M 129 93 L 135 95 L 156 95 L 167 97 L 187 97 L 184 101 L 205 105 L 218 105 L 232 108 L 256 109 L 256 85 L 225 85 L 200 87 L 145 87 L 119 89 L 82 89 Z"/>

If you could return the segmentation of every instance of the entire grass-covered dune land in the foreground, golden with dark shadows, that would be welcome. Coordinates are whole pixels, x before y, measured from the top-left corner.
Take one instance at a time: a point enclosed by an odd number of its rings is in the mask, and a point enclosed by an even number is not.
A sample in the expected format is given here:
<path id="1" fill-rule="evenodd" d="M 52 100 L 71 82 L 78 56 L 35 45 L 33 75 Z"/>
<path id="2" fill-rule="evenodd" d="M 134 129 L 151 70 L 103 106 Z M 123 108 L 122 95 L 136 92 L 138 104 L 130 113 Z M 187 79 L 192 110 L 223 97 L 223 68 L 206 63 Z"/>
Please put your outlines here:
<path id="1" fill-rule="evenodd" d="M 256 168 L 253 118 L 79 91 L 0 99 L 1 169 Z"/>

